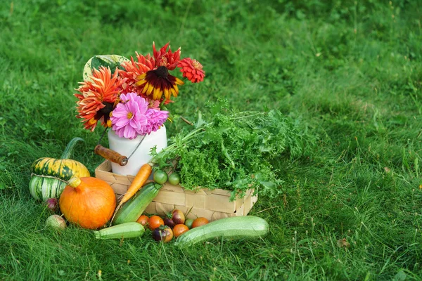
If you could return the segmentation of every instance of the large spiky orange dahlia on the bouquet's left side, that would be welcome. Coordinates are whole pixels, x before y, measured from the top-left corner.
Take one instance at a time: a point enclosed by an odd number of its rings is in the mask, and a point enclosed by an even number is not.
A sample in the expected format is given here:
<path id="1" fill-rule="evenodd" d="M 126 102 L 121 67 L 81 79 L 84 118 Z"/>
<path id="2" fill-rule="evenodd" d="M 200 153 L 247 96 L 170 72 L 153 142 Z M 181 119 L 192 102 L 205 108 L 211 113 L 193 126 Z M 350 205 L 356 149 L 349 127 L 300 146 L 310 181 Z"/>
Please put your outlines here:
<path id="1" fill-rule="evenodd" d="M 117 77 L 117 69 L 113 76 L 110 67 L 101 66 L 94 69 L 88 81 L 81 82 L 76 91 L 77 118 L 83 119 L 84 128 L 94 131 L 98 121 L 103 126 L 110 126 L 110 112 L 126 79 Z"/>

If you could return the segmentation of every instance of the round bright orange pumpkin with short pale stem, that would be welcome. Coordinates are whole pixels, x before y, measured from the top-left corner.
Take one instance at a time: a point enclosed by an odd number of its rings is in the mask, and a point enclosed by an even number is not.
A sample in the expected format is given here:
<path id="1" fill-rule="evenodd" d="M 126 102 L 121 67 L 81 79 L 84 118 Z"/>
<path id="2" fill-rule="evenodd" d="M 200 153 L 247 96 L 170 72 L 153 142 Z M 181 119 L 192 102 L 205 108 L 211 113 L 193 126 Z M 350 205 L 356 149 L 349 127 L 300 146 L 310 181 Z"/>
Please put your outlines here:
<path id="1" fill-rule="evenodd" d="M 59 206 L 71 223 L 96 229 L 110 221 L 116 208 L 116 197 L 113 188 L 99 178 L 74 177 L 60 195 Z"/>

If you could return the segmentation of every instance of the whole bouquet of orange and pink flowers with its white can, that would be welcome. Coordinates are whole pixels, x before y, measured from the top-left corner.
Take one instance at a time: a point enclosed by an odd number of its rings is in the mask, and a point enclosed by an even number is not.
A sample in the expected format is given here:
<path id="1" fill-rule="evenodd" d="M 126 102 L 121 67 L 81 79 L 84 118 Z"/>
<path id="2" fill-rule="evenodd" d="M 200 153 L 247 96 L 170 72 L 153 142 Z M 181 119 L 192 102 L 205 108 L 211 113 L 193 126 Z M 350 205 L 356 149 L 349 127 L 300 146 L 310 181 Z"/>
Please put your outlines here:
<path id="1" fill-rule="evenodd" d="M 120 55 L 96 55 L 84 67 L 84 81 L 75 89 L 77 118 L 82 119 L 84 128 L 90 131 L 94 131 L 98 123 L 110 128 L 110 148 L 111 138 L 122 141 L 112 150 L 143 153 L 143 157 L 134 155 L 135 167 L 129 174 L 136 173 L 142 162 L 148 161 L 149 151 L 155 145 L 157 150 L 167 146 L 164 126 L 170 119 L 167 106 L 179 95 L 179 86 L 184 85 L 186 79 L 198 83 L 205 77 L 198 60 L 181 59 L 180 55 L 181 49 L 172 52 L 169 43 L 160 50 L 153 43 L 152 56 L 136 52 L 135 60 L 132 56 L 127 59 Z M 181 79 L 170 74 L 177 68 Z M 135 140 L 133 145 L 124 143 L 132 140 Z M 138 147 L 139 143 L 143 148 Z M 118 166 L 113 166 L 113 171 L 117 169 Z"/>

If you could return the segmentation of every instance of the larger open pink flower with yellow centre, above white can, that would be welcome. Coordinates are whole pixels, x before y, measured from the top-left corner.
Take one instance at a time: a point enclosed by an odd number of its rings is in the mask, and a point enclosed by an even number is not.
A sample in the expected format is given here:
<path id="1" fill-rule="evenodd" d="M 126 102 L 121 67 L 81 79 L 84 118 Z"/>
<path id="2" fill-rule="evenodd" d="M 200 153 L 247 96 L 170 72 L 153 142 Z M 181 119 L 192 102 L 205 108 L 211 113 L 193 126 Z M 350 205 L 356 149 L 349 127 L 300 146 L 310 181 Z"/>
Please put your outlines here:
<path id="1" fill-rule="evenodd" d="M 136 138 L 143 135 L 148 126 L 148 103 L 136 93 L 120 95 L 120 103 L 111 112 L 112 129 L 120 138 Z"/>

